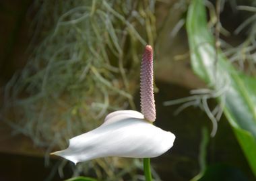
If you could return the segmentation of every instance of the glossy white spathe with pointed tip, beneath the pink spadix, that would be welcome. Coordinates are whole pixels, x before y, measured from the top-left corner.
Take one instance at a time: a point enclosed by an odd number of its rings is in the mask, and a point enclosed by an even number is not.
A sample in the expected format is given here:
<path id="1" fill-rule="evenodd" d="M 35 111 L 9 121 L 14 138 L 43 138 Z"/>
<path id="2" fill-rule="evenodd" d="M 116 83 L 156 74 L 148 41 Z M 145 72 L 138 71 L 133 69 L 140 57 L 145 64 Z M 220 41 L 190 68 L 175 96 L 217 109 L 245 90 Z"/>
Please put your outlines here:
<path id="1" fill-rule="evenodd" d="M 118 156 L 154 158 L 172 147 L 175 135 L 152 125 L 137 111 L 115 111 L 100 127 L 69 139 L 67 149 L 53 154 L 77 164 Z"/>

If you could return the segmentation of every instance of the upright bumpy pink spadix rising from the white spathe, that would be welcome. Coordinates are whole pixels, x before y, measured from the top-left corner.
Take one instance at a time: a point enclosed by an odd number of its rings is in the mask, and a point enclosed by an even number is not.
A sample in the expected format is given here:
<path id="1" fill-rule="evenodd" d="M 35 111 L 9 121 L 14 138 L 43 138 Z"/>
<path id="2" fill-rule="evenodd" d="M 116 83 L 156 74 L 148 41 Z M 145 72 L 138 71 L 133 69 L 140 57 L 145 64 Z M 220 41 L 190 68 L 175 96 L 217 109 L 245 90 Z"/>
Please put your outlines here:
<path id="1" fill-rule="evenodd" d="M 140 72 L 141 113 L 151 122 L 156 120 L 156 106 L 153 86 L 153 50 L 147 45 L 142 56 Z"/>

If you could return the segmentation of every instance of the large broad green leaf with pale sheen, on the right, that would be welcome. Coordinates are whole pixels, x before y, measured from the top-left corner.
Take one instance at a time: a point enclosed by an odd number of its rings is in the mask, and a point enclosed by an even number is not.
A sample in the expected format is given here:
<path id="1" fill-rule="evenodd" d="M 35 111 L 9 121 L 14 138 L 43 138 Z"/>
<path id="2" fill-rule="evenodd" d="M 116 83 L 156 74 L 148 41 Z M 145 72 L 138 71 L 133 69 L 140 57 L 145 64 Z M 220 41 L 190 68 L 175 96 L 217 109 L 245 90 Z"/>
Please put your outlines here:
<path id="1" fill-rule="evenodd" d="M 216 52 L 201 0 L 189 5 L 187 34 L 193 71 L 210 88 L 223 91 L 218 101 L 225 100 L 224 114 L 256 176 L 256 78 L 239 72 L 220 50 Z"/>

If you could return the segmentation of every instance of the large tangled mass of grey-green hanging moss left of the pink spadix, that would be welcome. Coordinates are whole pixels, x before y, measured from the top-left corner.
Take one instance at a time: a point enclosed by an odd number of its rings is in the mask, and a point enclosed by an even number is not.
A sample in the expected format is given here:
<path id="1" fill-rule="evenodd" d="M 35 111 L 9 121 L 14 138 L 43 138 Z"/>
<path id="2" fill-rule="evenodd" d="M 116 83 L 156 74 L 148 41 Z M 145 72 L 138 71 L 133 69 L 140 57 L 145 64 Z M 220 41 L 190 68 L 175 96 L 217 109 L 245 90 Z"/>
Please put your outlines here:
<path id="1" fill-rule="evenodd" d="M 135 109 L 141 50 L 155 37 L 154 1 L 46 0 L 33 9 L 31 58 L 5 86 L 2 113 L 48 155 L 100 125 L 110 111 Z M 107 162 L 117 165 L 107 158 L 85 170 L 93 167 L 101 178 L 100 165 L 118 180 L 136 168 L 114 174 Z"/>

